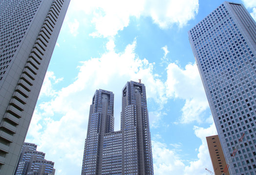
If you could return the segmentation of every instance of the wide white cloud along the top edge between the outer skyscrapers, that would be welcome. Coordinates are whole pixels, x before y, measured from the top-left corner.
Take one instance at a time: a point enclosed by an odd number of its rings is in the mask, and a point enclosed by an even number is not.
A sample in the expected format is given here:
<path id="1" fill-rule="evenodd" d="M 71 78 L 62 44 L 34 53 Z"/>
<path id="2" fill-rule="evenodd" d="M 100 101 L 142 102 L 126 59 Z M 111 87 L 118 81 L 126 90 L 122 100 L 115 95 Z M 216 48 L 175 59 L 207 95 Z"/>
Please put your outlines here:
<path id="1" fill-rule="evenodd" d="M 150 17 L 163 29 L 173 24 L 182 27 L 194 18 L 198 7 L 198 0 L 74 0 L 70 2 L 72 13 L 68 15 L 83 11 L 95 25 L 96 31 L 90 35 L 107 37 L 127 27 L 130 17 Z"/>

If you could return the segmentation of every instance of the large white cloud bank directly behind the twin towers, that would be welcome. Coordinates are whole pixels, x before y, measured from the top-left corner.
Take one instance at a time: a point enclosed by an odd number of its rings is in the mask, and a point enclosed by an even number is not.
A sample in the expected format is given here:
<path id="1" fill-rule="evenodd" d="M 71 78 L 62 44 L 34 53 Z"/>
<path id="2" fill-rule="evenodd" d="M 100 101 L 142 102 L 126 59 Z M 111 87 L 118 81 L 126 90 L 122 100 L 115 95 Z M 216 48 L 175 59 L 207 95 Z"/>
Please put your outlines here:
<path id="1" fill-rule="evenodd" d="M 80 174 L 86 138 L 89 106 L 96 89 L 115 93 L 115 129 L 120 128 L 121 89 L 129 80 L 142 79 L 147 87 L 147 98 L 162 106 L 166 98 L 164 84 L 152 72 L 153 64 L 140 59 L 135 53 L 136 40 L 122 53 L 113 51 L 114 43 L 100 58 L 81 63 L 75 82 L 59 91 L 53 84 L 59 79 L 47 72 L 41 96 L 52 97 L 38 105 L 34 112 L 26 141 L 39 145 L 46 159 L 55 162 L 57 174 Z M 70 160 L 72 161 L 66 161 Z M 68 170 L 65 167 L 69 167 Z"/>

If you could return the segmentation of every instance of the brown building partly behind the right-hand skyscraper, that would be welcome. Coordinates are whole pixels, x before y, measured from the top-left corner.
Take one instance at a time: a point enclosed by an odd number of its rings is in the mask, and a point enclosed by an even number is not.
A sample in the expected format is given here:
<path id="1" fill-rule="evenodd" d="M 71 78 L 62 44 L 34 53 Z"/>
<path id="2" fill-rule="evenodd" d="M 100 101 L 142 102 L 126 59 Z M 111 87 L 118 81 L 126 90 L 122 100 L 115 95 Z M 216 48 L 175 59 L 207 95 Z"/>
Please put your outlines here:
<path id="1" fill-rule="evenodd" d="M 222 175 L 227 165 L 218 135 L 206 137 L 208 150 L 213 164 L 213 171 L 215 175 Z M 230 175 L 229 171 L 225 173 Z"/>

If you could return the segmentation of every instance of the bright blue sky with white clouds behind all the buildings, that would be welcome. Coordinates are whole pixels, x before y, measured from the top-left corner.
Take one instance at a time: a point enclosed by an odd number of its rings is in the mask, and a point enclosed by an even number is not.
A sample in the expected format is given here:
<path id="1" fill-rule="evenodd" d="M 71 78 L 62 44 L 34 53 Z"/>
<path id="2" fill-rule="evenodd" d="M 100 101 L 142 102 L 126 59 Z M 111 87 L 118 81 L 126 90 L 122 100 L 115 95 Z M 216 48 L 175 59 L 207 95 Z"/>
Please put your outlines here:
<path id="1" fill-rule="evenodd" d="M 256 0 L 233 1 L 256 18 Z M 56 175 L 80 175 L 95 90 L 115 94 L 120 130 L 122 88 L 142 79 L 154 174 L 213 171 L 205 137 L 216 129 L 187 32 L 222 2 L 71 0 L 26 141 L 55 162 Z"/>

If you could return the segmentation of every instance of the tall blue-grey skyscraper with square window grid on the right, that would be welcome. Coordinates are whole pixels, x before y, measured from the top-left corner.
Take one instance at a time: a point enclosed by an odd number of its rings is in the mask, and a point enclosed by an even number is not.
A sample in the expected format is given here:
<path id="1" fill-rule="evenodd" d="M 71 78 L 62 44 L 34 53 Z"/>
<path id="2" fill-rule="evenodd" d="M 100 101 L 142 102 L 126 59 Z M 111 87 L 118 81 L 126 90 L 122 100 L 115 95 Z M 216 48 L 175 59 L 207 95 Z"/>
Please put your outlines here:
<path id="1" fill-rule="evenodd" d="M 224 2 L 189 32 L 231 175 L 256 174 L 256 23 Z"/>

